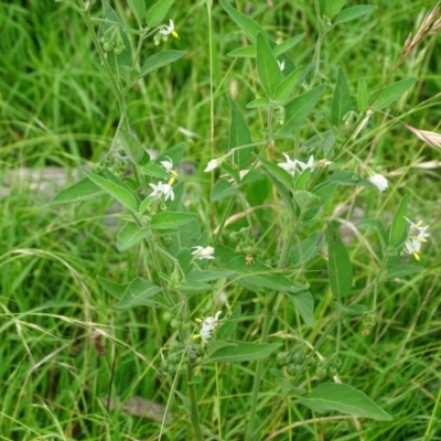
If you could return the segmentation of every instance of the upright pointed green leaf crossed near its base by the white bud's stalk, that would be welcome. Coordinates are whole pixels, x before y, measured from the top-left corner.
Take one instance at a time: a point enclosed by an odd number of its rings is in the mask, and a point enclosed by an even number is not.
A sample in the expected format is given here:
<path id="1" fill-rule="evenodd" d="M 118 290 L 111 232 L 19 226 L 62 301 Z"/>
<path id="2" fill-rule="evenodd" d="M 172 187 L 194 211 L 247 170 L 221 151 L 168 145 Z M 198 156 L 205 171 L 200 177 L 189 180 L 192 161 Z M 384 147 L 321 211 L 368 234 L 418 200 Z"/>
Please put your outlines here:
<path id="1" fill-rule="evenodd" d="M 241 146 L 249 146 L 252 143 L 251 133 L 245 121 L 244 115 L 240 109 L 237 107 L 237 104 L 228 97 L 229 108 L 230 108 L 230 118 L 232 122 L 229 125 L 229 143 L 228 150 L 235 149 Z M 245 169 L 252 154 L 252 147 L 247 147 L 244 149 L 239 149 L 234 153 L 234 161 L 239 168 L 239 170 Z"/>

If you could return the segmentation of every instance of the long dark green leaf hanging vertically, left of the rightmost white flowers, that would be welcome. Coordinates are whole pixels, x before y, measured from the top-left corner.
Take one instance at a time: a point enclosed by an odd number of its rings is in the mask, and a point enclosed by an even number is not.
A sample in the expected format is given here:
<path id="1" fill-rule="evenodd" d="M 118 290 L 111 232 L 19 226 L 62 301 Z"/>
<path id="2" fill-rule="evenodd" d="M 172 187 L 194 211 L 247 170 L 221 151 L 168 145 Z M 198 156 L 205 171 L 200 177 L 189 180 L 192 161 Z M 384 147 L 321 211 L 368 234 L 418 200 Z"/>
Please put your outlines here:
<path id="1" fill-rule="evenodd" d="M 327 226 L 327 272 L 331 291 L 337 298 L 344 298 L 351 292 L 352 262 L 342 239 L 332 224 Z"/>

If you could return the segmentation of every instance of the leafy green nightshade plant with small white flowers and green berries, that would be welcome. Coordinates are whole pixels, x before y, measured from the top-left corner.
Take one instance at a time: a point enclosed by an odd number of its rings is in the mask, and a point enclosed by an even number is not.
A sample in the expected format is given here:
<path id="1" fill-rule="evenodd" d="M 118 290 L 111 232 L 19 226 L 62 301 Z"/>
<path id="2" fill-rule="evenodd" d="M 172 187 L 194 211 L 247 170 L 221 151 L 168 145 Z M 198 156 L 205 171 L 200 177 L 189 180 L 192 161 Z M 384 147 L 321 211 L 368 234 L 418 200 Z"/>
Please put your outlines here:
<path id="1" fill-rule="evenodd" d="M 172 336 L 166 351 L 158 348 L 162 354 L 158 367 L 161 380 L 170 381 L 172 391 L 178 385 L 182 389 L 176 394 L 193 428 L 189 439 L 207 435 L 197 389 L 203 387 L 208 375 L 204 366 L 209 364 L 249 363 L 254 369 L 252 389 L 245 391 L 250 397 L 249 413 L 240 439 L 260 439 L 266 421 L 290 406 L 389 420 L 391 417 L 363 391 L 341 381 L 342 327 L 347 325 L 347 316 L 358 316 L 362 332 L 372 331 L 377 319 L 378 284 L 421 270 L 401 261 L 406 254 L 419 259 L 428 226 L 405 217 L 407 196 L 395 211 L 388 206 L 394 212 L 388 225 L 381 218 L 358 220 L 357 229 L 370 228 L 377 238 L 375 276 L 359 288 L 353 286 L 353 262 L 341 237 L 337 215 L 330 215 L 327 207 L 347 186 L 364 187 L 378 197 L 388 190 L 387 179 L 368 168 L 353 147 L 361 142 L 369 119 L 416 83 L 417 78 L 389 79 L 427 36 L 438 32 L 438 7 L 426 17 L 417 35 L 409 36 L 401 57 L 377 90 L 368 93 L 366 82 L 359 78 L 354 106 L 344 69 L 336 68 L 335 82 L 321 73 L 321 44 L 333 26 L 373 13 L 374 7 L 344 9 L 345 1 L 316 1 L 320 33 L 315 53 L 309 65 L 298 66 L 289 52 L 302 34 L 276 44 L 262 26 L 222 0 L 225 12 L 248 40 L 248 45 L 229 56 L 251 60 L 259 78 L 259 96 L 246 107 L 266 115 L 267 122 L 260 138 L 254 139 L 244 109 L 229 98 L 228 149 L 212 150 L 205 168 L 215 178 L 209 203 L 215 212 L 222 212 L 218 225 L 208 226 L 184 204 L 185 182 L 176 170 L 185 144 L 164 147 L 159 158 L 151 159 L 132 135 L 127 112 L 130 88 L 185 55 L 183 51 L 161 51 L 164 40 L 179 36 L 170 19 L 173 0 L 160 0 L 148 11 L 144 0 L 128 0 L 137 29 L 125 26 L 106 0 L 101 0 L 101 18 L 92 17 L 95 1 L 65 1 L 87 25 L 103 75 L 107 75 L 118 100 L 120 120 L 108 154 L 92 171 L 84 169 L 85 178 L 61 191 L 52 204 L 108 194 L 130 215 L 118 233 L 118 249 L 123 252 L 140 241 L 148 244 L 143 277 L 131 281 L 98 277 L 98 281 L 118 299 L 116 309 L 159 309 L 170 323 Z M 209 0 L 206 7 L 211 18 Z M 157 52 L 140 60 L 146 42 L 153 43 L 150 47 Z M 213 100 L 212 96 L 212 128 Z M 313 112 L 319 107 L 320 118 Z M 426 141 L 435 135 L 407 128 Z M 256 198 L 256 192 L 262 195 Z M 273 218 L 268 222 L 268 217 Z M 303 331 L 315 326 L 315 293 L 310 291 L 309 269 L 313 265 L 316 269 L 318 261 L 326 270 L 334 309 L 326 332 L 308 342 Z M 241 301 L 241 305 L 230 308 L 222 304 L 220 294 L 235 290 L 248 303 Z M 193 313 L 201 305 L 205 318 Z M 282 320 L 282 308 L 295 309 L 303 322 L 299 330 Z M 261 316 L 256 321 L 259 332 L 250 342 L 235 340 L 238 324 L 246 319 L 245 309 Z M 297 343 L 282 349 L 280 338 L 270 337 L 271 331 L 279 329 L 290 332 Z M 323 347 L 326 357 L 320 354 Z M 306 372 L 312 379 L 306 380 Z M 180 376 L 185 379 L 176 380 Z M 259 406 L 263 378 L 280 389 L 280 406 L 272 411 Z"/>

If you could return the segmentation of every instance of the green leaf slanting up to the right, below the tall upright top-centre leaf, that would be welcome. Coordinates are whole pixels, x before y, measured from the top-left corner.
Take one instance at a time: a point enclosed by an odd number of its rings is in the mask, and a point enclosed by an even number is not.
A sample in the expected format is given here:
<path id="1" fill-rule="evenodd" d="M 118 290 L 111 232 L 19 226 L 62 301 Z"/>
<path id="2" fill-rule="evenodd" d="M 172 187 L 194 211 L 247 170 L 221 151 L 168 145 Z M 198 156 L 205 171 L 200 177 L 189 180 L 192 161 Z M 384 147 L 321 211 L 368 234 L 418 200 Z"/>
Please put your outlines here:
<path id="1" fill-rule="evenodd" d="M 308 118 L 312 109 L 319 103 L 326 85 L 322 84 L 309 90 L 287 104 L 284 107 L 284 125 L 277 132 L 277 135 L 292 135 L 292 132 L 300 127 L 300 125 Z"/>

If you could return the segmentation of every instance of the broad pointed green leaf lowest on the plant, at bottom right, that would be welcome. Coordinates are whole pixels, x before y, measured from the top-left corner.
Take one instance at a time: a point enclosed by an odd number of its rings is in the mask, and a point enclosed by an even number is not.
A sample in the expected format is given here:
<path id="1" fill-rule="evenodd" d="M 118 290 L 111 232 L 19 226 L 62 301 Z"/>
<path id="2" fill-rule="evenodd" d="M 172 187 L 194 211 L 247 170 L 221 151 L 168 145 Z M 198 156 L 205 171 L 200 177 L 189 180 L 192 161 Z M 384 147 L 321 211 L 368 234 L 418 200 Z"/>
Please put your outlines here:
<path id="1" fill-rule="evenodd" d="M 322 383 L 297 402 L 319 413 L 336 410 L 377 421 L 392 420 L 390 415 L 386 413 L 369 397 L 348 385 Z"/>

